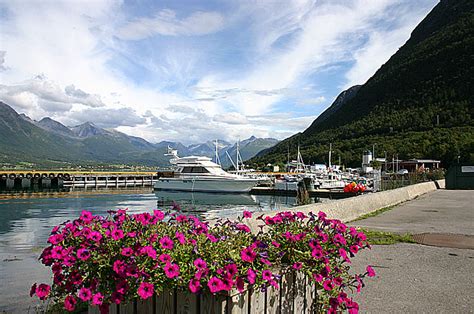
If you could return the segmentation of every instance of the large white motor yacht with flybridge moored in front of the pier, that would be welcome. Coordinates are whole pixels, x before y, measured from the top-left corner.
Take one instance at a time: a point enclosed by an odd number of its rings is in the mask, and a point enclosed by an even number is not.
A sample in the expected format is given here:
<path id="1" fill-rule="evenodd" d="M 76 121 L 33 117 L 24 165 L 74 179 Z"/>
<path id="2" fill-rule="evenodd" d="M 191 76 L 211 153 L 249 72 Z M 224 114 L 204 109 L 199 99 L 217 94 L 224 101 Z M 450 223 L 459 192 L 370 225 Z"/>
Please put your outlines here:
<path id="1" fill-rule="evenodd" d="M 259 179 L 231 174 L 222 169 L 211 158 L 203 156 L 178 157 L 176 150 L 169 150 L 173 156 L 172 176 L 159 177 L 155 190 L 248 193 Z"/>

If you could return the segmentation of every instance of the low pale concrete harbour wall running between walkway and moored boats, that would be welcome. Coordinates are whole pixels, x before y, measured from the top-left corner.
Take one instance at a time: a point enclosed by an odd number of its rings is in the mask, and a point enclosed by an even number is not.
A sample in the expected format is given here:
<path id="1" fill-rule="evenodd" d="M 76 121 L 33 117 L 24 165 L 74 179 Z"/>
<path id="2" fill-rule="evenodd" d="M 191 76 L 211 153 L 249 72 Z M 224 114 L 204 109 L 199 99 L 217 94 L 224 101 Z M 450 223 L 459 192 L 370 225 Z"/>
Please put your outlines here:
<path id="1" fill-rule="evenodd" d="M 444 186 L 444 180 L 438 181 L 439 186 Z M 420 195 L 436 190 L 434 181 L 414 184 L 394 190 L 388 190 L 377 193 L 368 193 L 355 197 L 330 201 L 328 203 L 310 204 L 304 206 L 292 207 L 289 209 L 268 211 L 264 216 L 272 216 L 282 211 L 300 211 L 303 213 L 318 213 L 323 211 L 328 218 L 339 219 L 344 222 L 354 220 L 362 215 L 369 214 L 381 208 L 394 206 L 409 200 L 412 200 Z M 256 213 L 255 213 L 256 214 Z M 254 215 L 257 216 L 257 215 Z M 252 218 L 249 222 L 253 231 L 258 231 L 259 225 L 262 221 L 257 221 Z"/>

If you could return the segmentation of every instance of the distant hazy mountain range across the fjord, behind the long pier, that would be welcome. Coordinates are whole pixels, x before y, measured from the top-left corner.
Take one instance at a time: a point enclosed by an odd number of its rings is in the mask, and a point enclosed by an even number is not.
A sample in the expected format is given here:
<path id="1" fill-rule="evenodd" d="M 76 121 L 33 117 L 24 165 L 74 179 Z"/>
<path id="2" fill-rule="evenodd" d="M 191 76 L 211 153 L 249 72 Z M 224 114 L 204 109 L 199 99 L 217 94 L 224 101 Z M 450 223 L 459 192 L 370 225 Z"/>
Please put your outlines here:
<path id="1" fill-rule="evenodd" d="M 95 164 L 166 167 L 169 157 L 164 154 L 168 146 L 178 149 L 180 156 L 215 156 L 213 141 L 187 146 L 170 141 L 150 143 L 91 122 L 68 127 L 49 117 L 35 121 L 1 101 L 0 135 L 0 164 L 7 165 L 27 162 L 38 167 Z M 235 160 L 236 144 L 223 140 L 218 143 L 222 165 L 228 167 L 231 162 L 226 151 Z M 240 153 L 246 160 L 276 143 L 276 139 L 252 136 L 240 142 Z"/>

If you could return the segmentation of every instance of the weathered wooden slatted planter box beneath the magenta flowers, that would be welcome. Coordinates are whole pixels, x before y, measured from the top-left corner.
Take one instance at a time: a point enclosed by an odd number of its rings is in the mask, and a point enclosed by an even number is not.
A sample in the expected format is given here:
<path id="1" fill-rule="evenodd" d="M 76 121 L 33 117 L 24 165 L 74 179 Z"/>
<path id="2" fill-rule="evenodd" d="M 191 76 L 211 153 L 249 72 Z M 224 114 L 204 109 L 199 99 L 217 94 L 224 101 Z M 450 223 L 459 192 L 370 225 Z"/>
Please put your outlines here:
<path id="1" fill-rule="evenodd" d="M 111 314 L 250 314 L 250 313 L 317 313 L 317 291 L 314 280 L 297 272 L 282 275 L 280 289 L 267 291 L 249 289 L 239 294 L 231 291 L 212 295 L 195 295 L 189 291 L 165 291 L 147 300 L 126 305 L 111 305 Z M 89 314 L 98 314 L 90 306 Z"/>

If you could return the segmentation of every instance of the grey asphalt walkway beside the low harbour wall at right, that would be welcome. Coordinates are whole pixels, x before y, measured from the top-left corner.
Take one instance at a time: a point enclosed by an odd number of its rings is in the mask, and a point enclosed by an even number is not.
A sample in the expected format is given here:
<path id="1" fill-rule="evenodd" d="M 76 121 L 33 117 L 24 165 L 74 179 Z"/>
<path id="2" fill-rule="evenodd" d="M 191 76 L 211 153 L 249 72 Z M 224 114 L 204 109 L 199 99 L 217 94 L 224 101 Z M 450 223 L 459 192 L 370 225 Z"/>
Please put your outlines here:
<path id="1" fill-rule="evenodd" d="M 437 190 L 351 225 L 397 233 L 474 235 L 474 191 Z M 474 313 L 474 250 L 399 243 L 354 259 L 377 272 L 356 297 L 365 313 Z"/>

